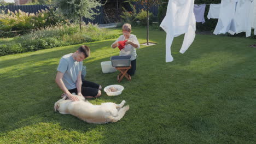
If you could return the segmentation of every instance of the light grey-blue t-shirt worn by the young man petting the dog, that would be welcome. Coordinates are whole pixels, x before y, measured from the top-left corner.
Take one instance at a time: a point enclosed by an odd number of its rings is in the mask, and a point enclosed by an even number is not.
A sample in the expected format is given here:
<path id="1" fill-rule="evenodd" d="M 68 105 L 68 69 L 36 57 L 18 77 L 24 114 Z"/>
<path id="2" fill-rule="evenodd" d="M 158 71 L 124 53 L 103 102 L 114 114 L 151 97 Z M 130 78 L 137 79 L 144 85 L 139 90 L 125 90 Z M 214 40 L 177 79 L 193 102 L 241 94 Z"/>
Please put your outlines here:
<path id="1" fill-rule="evenodd" d="M 77 77 L 79 71 L 82 71 L 83 61 L 77 62 L 72 57 L 72 53 L 63 56 L 60 59 L 57 71 L 63 73 L 62 81 L 67 89 L 77 88 L 75 83 L 77 82 Z"/>

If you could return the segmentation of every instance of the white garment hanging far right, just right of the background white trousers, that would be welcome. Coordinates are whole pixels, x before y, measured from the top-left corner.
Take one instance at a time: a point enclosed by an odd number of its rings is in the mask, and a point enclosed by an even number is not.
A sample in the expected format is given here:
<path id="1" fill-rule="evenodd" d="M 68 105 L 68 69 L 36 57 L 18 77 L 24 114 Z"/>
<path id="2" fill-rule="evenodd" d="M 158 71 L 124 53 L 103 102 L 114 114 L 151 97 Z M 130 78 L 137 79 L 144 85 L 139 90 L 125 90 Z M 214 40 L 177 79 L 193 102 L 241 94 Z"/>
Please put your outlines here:
<path id="1" fill-rule="evenodd" d="M 235 34 L 235 33 L 241 33 L 246 32 L 246 37 L 251 36 L 251 21 L 252 17 L 251 14 L 251 5 L 252 0 L 239 0 L 236 5 L 236 11 L 234 16 L 234 30 L 230 28 L 229 33 Z"/>

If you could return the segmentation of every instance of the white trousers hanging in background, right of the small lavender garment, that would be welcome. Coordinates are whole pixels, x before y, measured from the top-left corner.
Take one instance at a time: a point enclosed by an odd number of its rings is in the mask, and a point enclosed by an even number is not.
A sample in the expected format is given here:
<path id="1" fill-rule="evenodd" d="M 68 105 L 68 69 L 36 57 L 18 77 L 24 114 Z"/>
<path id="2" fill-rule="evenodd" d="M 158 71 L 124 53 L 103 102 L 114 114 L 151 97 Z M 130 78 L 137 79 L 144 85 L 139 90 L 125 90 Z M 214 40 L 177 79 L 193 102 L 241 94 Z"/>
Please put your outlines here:
<path id="1" fill-rule="evenodd" d="M 235 10 L 236 10 L 237 0 L 222 0 L 220 3 L 219 10 L 219 20 L 216 28 L 214 29 L 214 34 L 224 34 L 230 29 L 235 31 Z"/>

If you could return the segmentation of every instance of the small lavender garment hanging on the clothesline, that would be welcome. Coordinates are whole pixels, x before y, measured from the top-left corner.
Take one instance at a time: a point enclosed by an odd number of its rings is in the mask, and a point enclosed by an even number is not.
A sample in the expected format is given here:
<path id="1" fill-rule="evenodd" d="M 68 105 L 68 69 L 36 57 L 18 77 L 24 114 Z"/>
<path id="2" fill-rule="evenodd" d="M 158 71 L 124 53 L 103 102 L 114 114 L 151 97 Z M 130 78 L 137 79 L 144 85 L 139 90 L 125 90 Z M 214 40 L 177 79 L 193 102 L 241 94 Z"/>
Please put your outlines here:
<path id="1" fill-rule="evenodd" d="M 197 5 L 194 4 L 194 14 L 196 22 L 205 23 L 205 4 Z"/>

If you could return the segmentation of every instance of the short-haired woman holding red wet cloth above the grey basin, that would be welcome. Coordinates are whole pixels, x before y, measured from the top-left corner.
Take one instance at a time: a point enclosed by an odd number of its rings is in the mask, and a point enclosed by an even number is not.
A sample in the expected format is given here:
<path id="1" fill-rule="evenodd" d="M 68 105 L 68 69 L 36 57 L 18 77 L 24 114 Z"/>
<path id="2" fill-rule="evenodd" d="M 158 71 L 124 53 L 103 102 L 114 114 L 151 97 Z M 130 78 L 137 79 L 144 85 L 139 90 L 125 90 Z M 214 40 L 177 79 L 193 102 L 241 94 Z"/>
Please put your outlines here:
<path id="1" fill-rule="evenodd" d="M 121 35 L 111 47 L 114 49 L 117 46 L 120 46 L 120 43 L 124 43 L 124 48 L 120 48 L 119 56 L 131 56 L 131 69 L 128 70 L 129 75 L 134 75 L 136 70 L 136 58 L 137 53 L 136 49 L 139 49 L 139 42 L 136 35 L 131 34 L 131 25 L 125 23 L 122 27 L 123 35 Z M 118 43 L 119 42 L 119 43 Z"/>

